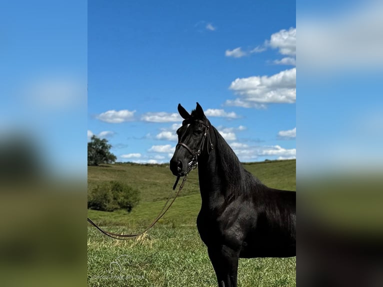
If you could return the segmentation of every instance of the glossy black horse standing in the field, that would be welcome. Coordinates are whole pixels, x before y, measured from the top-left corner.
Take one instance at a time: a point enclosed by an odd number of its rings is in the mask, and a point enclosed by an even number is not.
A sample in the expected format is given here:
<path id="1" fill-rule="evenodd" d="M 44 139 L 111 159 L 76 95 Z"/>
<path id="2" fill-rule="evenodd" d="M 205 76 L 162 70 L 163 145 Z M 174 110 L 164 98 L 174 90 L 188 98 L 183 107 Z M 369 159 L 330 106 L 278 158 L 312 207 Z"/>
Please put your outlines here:
<path id="1" fill-rule="evenodd" d="M 237 285 L 238 258 L 295 256 L 295 191 L 265 186 L 245 170 L 197 103 L 177 130 L 170 170 L 183 176 L 198 163 L 202 197 L 197 227 L 218 286 Z"/>

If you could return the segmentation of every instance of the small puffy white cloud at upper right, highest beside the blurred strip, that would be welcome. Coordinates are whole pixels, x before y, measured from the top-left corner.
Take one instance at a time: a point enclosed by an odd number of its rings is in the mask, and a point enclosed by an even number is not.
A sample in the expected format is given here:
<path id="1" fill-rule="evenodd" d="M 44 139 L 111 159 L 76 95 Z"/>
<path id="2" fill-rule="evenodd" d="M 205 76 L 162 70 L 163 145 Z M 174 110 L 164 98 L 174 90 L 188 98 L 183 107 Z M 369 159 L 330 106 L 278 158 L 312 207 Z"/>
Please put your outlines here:
<path id="1" fill-rule="evenodd" d="M 282 29 L 273 33 L 267 44 L 279 49 L 282 55 L 294 56 L 296 54 L 296 28 Z"/>

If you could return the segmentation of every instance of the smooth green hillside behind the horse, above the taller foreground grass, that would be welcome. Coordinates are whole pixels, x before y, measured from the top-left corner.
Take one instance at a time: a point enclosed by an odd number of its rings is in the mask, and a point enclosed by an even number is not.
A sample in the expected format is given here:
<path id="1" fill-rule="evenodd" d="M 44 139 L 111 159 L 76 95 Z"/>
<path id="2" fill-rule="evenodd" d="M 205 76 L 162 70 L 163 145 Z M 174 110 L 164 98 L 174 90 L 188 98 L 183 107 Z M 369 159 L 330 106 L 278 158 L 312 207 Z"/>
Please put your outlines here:
<path id="1" fill-rule="evenodd" d="M 264 184 L 274 188 L 295 190 L 295 160 L 243 163 Z M 88 210 L 88 217 L 101 225 L 135 228 L 150 223 L 165 203 L 175 176 L 168 164 L 115 163 L 88 166 L 88 191 L 103 181 L 119 180 L 140 190 L 140 203 L 130 213 L 124 210 L 104 212 Z M 179 183 L 178 183 L 179 184 Z M 193 170 L 170 209 L 158 223 L 195 224 L 200 208 L 198 172 Z"/>

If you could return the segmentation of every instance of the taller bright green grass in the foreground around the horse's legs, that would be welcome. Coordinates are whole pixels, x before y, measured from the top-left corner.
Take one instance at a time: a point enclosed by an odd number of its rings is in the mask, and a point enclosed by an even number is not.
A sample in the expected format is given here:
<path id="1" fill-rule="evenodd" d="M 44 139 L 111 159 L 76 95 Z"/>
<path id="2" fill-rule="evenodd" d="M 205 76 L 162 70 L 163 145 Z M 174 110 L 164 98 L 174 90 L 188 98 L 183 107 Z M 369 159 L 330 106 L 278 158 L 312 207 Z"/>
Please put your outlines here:
<path id="1" fill-rule="evenodd" d="M 124 241 L 89 229 L 88 285 L 200 287 L 217 283 L 196 228 L 155 226 L 138 239 Z M 238 286 L 296 286 L 295 257 L 239 259 Z"/>

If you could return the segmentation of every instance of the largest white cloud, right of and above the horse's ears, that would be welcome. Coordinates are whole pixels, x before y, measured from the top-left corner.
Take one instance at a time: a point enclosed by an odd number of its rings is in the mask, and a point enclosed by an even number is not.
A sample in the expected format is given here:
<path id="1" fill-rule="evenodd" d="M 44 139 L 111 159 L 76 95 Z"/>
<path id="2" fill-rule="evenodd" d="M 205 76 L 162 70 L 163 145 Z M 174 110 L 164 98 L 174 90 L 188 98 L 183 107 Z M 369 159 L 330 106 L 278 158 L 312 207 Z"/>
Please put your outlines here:
<path id="1" fill-rule="evenodd" d="M 266 103 L 293 103 L 296 99 L 296 68 L 280 71 L 271 76 L 236 78 L 230 84 L 240 98 L 226 100 L 226 105 L 264 107 Z"/>

